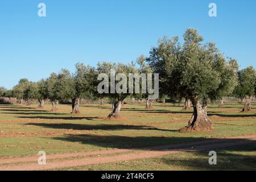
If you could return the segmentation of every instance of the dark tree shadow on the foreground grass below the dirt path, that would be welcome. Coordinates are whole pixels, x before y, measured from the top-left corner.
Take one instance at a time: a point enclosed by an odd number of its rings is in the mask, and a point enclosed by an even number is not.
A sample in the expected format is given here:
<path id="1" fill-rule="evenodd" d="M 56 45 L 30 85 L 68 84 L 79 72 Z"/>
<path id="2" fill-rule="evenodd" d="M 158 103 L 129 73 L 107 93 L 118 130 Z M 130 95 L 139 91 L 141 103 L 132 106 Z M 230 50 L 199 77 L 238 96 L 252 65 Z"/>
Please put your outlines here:
<path id="1" fill-rule="evenodd" d="M 243 155 L 245 152 L 255 152 L 255 143 L 215 151 L 217 153 L 217 165 L 209 164 L 209 151 L 193 152 L 193 155 L 188 154 L 187 158 L 164 156 L 159 159 L 159 162 L 170 167 L 179 166 L 192 170 L 256 170 L 255 155 Z M 232 154 L 232 151 L 241 152 L 242 154 Z"/>

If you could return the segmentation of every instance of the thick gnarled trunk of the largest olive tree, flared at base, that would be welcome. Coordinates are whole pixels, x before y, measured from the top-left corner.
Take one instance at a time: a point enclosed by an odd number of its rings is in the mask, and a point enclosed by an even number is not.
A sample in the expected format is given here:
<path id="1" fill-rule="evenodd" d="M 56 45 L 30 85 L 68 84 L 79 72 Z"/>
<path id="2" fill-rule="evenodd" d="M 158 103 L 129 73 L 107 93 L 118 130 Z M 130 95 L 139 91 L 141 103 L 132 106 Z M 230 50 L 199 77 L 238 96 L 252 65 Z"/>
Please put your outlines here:
<path id="1" fill-rule="evenodd" d="M 187 131 L 209 131 L 213 130 L 213 125 L 210 119 L 207 116 L 207 105 L 204 104 L 204 107 L 200 105 L 200 102 L 197 98 L 190 98 L 193 105 L 193 115 L 188 122 L 188 125 L 183 129 L 180 129 L 180 132 Z"/>

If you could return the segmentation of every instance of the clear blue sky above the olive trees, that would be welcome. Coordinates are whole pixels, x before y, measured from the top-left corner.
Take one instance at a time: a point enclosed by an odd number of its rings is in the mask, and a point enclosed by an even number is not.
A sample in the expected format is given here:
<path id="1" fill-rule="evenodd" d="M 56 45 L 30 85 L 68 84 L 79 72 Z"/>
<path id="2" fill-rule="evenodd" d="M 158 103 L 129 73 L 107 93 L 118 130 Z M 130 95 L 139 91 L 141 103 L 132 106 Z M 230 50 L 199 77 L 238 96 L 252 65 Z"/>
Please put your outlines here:
<path id="1" fill-rule="evenodd" d="M 39 18 L 38 4 L 47 16 Z M 210 2 L 217 17 L 208 16 Z M 46 78 L 77 62 L 127 63 L 148 55 L 164 35 L 197 28 L 241 68 L 256 66 L 256 1 L 171 0 L 1 0 L 0 86 L 20 78 Z"/>

